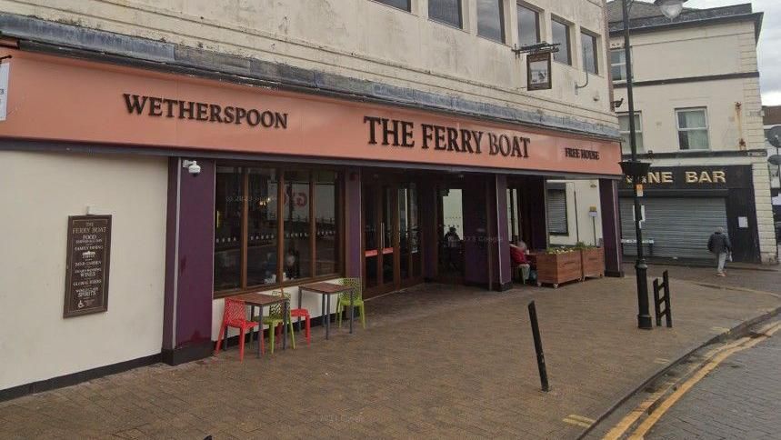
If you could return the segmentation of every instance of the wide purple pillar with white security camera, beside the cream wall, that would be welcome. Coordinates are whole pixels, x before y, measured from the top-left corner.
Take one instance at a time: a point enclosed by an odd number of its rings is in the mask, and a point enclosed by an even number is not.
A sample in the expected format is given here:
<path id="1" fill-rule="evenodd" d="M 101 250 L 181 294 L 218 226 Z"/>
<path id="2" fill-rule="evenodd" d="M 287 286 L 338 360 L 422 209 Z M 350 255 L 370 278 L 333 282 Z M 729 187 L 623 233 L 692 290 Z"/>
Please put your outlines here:
<path id="1" fill-rule="evenodd" d="M 163 354 L 174 365 L 211 353 L 215 163 L 198 165 L 195 176 L 169 164 Z"/>

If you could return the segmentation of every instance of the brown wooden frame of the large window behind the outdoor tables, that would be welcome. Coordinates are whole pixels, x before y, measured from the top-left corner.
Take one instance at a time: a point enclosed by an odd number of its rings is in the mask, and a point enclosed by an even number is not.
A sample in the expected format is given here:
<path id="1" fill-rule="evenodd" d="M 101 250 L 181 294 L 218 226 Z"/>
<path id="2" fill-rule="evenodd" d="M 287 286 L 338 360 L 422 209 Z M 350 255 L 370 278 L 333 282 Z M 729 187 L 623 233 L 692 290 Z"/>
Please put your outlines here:
<path id="1" fill-rule="evenodd" d="M 339 270 L 332 274 L 324 274 L 324 275 L 317 275 L 315 269 L 316 269 L 316 260 L 317 255 L 315 253 L 316 251 L 316 236 L 315 236 L 315 229 L 316 229 L 316 222 L 315 222 L 315 181 L 313 180 L 314 176 L 314 170 L 315 168 L 307 167 L 307 166 L 279 166 L 279 165 L 271 165 L 271 164 L 256 164 L 256 163 L 225 163 L 225 164 L 218 164 L 218 165 L 226 165 L 226 166 L 236 166 L 241 167 L 242 170 L 242 200 L 243 200 L 243 206 L 242 206 L 242 225 L 241 225 L 241 279 L 239 280 L 239 284 L 241 285 L 238 288 L 235 289 L 228 289 L 228 290 L 220 290 L 215 291 L 214 290 L 214 283 L 212 284 L 212 296 L 214 299 L 219 298 L 225 298 L 226 296 L 232 296 L 232 295 L 240 295 L 248 292 L 259 292 L 259 291 L 265 291 L 265 290 L 274 290 L 279 288 L 285 288 L 285 287 L 294 287 L 297 285 L 303 285 L 308 283 L 314 283 L 317 281 L 325 281 L 329 279 L 334 278 L 340 278 L 343 277 L 345 274 L 345 171 L 339 168 L 334 167 L 325 167 L 323 169 L 328 171 L 334 171 L 337 174 L 336 179 L 336 194 L 337 199 L 336 203 L 338 204 L 338 212 L 335 213 L 337 215 L 337 222 L 338 222 L 338 243 L 336 243 L 336 246 L 338 248 L 339 256 L 338 256 L 338 262 L 339 262 Z M 280 209 L 280 203 L 285 200 L 285 171 L 306 171 L 309 175 L 309 239 L 310 239 L 310 252 L 311 252 L 311 258 L 310 258 L 310 276 L 306 278 L 296 278 L 292 280 L 287 281 L 277 281 L 274 284 L 268 284 L 268 285 L 246 285 L 246 278 L 247 278 L 247 252 L 248 252 L 248 241 L 247 241 L 247 233 L 249 230 L 249 169 L 250 168 L 265 168 L 265 169 L 274 169 L 275 175 L 276 175 L 276 203 L 277 203 L 277 215 L 276 215 L 276 279 L 277 280 L 283 280 L 283 272 L 285 270 L 284 264 L 285 264 L 285 220 L 284 216 L 282 215 L 282 211 Z M 293 203 L 292 200 L 290 203 Z M 212 253 L 214 254 L 214 249 L 212 250 Z M 214 271 L 214 267 L 212 268 Z"/>

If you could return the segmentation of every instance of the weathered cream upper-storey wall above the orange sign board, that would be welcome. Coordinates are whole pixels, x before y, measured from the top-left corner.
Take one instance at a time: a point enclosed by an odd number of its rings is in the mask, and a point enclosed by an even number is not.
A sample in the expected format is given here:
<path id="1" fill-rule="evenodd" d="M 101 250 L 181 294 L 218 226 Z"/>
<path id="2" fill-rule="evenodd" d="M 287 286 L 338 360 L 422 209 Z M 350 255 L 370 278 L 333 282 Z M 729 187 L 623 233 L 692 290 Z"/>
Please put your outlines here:
<path id="1" fill-rule="evenodd" d="M 526 58 L 516 59 L 516 0 L 503 0 L 506 42 L 477 36 L 476 0 L 462 0 L 463 28 L 373 0 L 0 0 L 0 11 L 140 36 L 219 53 L 410 87 L 545 115 L 615 125 L 608 97 L 603 0 L 527 0 L 571 23 L 573 65 L 554 63 L 552 90 L 526 91 Z M 599 35 L 599 75 L 586 83 L 581 28 Z"/>

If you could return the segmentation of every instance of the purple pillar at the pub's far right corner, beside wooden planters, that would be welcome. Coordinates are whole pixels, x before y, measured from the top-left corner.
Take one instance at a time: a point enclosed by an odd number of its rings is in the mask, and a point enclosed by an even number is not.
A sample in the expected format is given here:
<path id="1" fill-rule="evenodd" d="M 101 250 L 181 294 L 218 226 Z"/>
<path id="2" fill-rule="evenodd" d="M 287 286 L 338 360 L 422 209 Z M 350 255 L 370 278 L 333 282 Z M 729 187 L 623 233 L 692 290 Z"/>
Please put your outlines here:
<path id="1" fill-rule="evenodd" d="M 602 237 L 605 246 L 605 275 L 624 276 L 621 268 L 621 217 L 618 211 L 618 181 L 599 179 L 602 209 Z"/>

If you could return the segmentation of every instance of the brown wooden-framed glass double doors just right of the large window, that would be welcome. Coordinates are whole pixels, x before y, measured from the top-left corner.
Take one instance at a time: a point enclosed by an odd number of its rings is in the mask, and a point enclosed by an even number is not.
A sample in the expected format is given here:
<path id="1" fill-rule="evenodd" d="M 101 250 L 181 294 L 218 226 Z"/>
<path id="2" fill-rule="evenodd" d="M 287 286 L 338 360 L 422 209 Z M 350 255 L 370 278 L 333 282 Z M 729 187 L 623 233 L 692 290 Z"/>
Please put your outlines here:
<path id="1" fill-rule="evenodd" d="M 390 178 L 363 186 L 365 297 L 423 281 L 418 193 Z"/>

